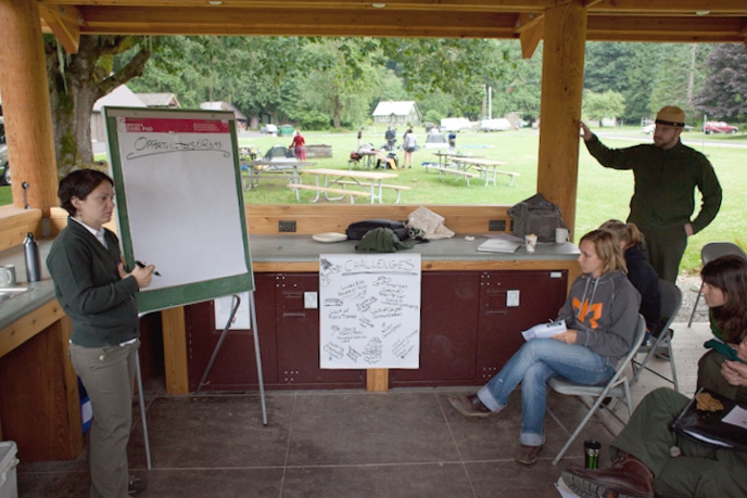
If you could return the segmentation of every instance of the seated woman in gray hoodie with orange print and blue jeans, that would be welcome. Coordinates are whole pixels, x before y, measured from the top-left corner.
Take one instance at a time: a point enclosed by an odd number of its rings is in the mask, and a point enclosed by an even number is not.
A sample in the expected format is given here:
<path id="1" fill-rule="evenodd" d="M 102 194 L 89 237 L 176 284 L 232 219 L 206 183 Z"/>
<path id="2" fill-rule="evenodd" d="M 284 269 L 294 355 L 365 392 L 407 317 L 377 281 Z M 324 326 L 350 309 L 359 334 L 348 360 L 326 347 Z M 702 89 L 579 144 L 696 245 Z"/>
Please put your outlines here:
<path id="1" fill-rule="evenodd" d="M 545 443 L 547 381 L 565 376 L 580 384 L 602 383 L 615 373 L 635 337 L 641 295 L 625 277 L 616 237 L 594 230 L 579 248 L 582 274 L 558 315 L 568 330 L 527 342 L 477 394 L 450 399 L 467 417 L 488 417 L 501 411 L 521 383 L 523 421 L 516 460 L 526 465 L 536 462 Z"/>

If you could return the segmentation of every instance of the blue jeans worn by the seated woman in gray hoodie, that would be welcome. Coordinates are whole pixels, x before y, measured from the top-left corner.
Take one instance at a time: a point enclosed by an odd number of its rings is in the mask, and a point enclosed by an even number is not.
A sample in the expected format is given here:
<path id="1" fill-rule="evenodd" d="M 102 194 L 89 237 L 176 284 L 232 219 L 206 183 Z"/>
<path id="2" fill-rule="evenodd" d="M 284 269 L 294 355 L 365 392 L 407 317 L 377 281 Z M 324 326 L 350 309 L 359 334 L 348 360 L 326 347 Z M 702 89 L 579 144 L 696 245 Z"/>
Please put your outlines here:
<path id="1" fill-rule="evenodd" d="M 478 397 L 491 410 L 501 410 L 514 387 L 521 382 L 521 444 L 541 446 L 545 443 L 547 381 L 565 376 L 579 384 L 599 384 L 615 373 L 615 367 L 607 357 L 586 346 L 535 339 L 511 356 L 501 372 L 478 392 Z"/>

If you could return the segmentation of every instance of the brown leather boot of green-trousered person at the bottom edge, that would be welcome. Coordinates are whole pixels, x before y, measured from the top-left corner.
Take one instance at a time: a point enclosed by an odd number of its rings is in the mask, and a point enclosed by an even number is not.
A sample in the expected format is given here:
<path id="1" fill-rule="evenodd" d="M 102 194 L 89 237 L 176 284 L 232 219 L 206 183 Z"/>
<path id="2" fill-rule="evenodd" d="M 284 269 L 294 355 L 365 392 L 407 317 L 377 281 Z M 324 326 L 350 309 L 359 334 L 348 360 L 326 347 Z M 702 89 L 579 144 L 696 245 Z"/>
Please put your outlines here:
<path id="1" fill-rule="evenodd" d="M 610 469 L 567 469 L 562 481 L 582 498 L 654 498 L 654 472 L 625 452 Z"/>

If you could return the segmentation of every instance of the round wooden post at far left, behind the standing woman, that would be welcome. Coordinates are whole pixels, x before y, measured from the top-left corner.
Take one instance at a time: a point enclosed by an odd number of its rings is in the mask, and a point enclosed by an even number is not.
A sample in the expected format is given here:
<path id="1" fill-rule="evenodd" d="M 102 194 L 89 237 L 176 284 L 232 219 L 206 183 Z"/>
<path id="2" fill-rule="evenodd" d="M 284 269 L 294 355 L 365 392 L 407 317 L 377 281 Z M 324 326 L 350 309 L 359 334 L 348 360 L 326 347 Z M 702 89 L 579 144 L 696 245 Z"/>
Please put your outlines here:
<path id="1" fill-rule="evenodd" d="M 45 218 L 59 204 L 52 114 L 36 0 L 0 0 L 0 93 L 13 179 L 13 205 L 27 202 Z"/>

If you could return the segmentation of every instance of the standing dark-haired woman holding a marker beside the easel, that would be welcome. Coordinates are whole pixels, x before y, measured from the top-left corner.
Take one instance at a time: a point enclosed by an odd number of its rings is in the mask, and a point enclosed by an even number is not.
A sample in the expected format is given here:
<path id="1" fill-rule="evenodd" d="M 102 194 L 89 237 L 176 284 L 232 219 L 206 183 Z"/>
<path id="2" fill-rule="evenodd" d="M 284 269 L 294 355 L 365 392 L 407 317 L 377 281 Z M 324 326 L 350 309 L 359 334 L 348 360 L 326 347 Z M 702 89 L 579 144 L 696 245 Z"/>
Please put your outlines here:
<path id="1" fill-rule="evenodd" d="M 153 266 L 127 272 L 119 241 L 102 227 L 114 212 L 114 189 L 101 171 L 80 169 L 60 181 L 69 217 L 47 266 L 54 294 L 72 322 L 68 355 L 91 399 L 91 497 L 124 498 L 144 489 L 127 470 L 136 355 L 140 346 L 135 294 L 151 283 Z"/>

